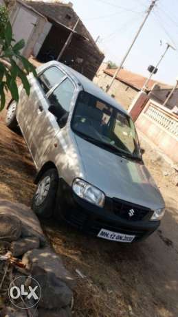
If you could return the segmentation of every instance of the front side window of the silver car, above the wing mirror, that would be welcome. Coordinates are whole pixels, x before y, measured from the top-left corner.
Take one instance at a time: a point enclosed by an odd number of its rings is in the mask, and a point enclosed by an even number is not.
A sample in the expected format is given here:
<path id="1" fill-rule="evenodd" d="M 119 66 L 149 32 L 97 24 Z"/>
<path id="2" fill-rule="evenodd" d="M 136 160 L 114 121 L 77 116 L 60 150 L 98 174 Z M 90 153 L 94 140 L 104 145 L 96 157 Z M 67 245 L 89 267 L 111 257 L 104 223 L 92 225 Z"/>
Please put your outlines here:
<path id="1" fill-rule="evenodd" d="M 49 96 L 49 111 L 53 109 L 55 116 L 60 120 L 69 113 L 71 99 L 74 95 L 75 87 L 69 78 L 66 78 L 52 94 Z M 52 111 L 51 111 L 52 112 Z"/>

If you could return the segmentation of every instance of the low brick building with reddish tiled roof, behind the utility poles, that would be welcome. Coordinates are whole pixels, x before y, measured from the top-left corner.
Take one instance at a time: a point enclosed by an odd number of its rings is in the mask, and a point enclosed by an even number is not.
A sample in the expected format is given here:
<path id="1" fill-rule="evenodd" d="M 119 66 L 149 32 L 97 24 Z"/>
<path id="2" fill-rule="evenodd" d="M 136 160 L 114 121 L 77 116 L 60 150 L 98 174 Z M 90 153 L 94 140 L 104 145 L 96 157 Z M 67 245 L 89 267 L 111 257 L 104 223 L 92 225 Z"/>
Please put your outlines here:
<path id="1" fill-rule="evenodd" d="M 93 81 L 100 88 L 106 89 L 111 82 L 113 74 L 115 74 L 115 69 L 109 69 L 107 63 L 102 63 Z M 115 98 L 125 109 L 129 109 L 129 106 L 137 96 L 137 93 L 144 86 L 146 79 L 146 77 L 140 74 L 121 69 L 109 94 L 111 94 L 111 96 L 113 96 L 113 98 Z M 155 80 L 150 80 L 148 83 L 148 93 L 152 92 L 152 98 L 155 99 L 155 101 L 164 102 L 166 96 L 170 94 L 171 89 L 171 86 L 164 83 L 157 83 Z M 170 108 L 172 107 L 172 103 L 174 103 L 172 101 L 170 100 L 170 102 L 168 102 L 168 107 Z"/>

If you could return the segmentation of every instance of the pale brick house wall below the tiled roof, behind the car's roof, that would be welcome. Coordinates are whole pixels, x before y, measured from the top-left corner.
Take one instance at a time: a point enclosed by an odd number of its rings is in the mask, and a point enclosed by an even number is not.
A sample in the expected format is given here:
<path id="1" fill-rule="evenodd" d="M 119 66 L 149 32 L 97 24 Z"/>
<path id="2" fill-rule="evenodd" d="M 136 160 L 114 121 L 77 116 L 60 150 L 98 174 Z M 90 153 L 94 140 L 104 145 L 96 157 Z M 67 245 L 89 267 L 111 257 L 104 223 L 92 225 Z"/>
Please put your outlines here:
<path id="1" fill-rule="evenodd" d="M 94 82 L 97 83 L 100 88 L 106 89 L 107 85 L 111 82 L 111 76 L 102 72 L 100 76 L 94 78 Z M 120 80 L 115 79 L 111 89 L 109 90 L 109 94 L 114 96 L 115 100 L 117 100 L 118 103 L 127 110 L 137 95 L 137 90 L 122 83 Z"/>

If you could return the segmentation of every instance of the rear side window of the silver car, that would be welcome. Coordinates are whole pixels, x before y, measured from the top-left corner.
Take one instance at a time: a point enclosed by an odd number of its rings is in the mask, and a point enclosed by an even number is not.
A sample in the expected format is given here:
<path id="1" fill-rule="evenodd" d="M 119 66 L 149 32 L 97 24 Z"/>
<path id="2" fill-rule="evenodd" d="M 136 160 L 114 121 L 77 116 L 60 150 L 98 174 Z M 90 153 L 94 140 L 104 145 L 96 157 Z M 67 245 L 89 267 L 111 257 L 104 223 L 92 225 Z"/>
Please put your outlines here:
<path id="1" fill-rule="evenodd" d="M 58 69 L 58 67 L 49 67 L 38 76 L 38 82 L 40 83 L 45 94 L 54 87 L 56 84 L 60 83 L 60 81 L 65 77 L 65 74 Z"/>

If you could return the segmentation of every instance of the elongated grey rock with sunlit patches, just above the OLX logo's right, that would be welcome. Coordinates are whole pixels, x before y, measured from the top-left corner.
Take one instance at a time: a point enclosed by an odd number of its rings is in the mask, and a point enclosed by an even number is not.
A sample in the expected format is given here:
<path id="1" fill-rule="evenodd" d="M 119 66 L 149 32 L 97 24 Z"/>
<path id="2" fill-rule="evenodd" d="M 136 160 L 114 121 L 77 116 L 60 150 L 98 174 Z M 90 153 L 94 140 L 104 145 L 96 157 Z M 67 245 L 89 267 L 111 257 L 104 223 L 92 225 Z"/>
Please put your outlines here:
<path id="1" fill-rule="evenodd" d="M 76 285 L 74 278 L 65 269 L 60 257 L 52 251 L 51 248 L 34 249 L 24 254 L 22 259 L 27 270 L 32 270 L 33 267 L 41 267 L 47 273 L 54 273 L 56 278 L 60 278 L 71 289 Z"/>

